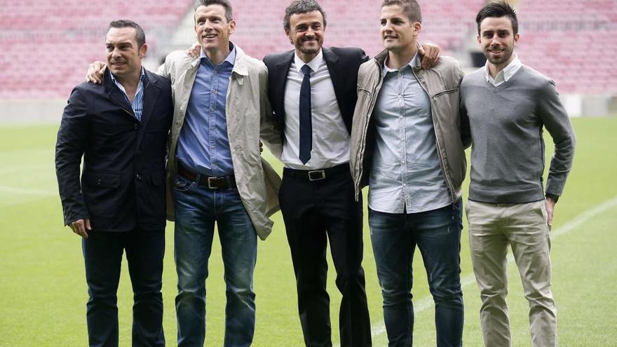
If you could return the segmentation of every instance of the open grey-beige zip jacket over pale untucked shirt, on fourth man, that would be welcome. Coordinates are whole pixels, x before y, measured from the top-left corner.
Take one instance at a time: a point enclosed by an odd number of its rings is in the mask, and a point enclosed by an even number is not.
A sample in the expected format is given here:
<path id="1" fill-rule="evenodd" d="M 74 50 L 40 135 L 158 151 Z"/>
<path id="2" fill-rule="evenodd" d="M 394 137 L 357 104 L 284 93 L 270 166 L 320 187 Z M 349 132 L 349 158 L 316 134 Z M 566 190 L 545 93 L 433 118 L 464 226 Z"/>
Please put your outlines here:
<path id="1" fill-rule="evenodd" d="M 360 65 L 358 71 L 358 102 L 353 112 L 349 161 L 356 200 L 362 187 L 369 182 L 375 147 L 375 122 L 372 115 L 384 80 L 382 67 L 387 56 L 388 51 L 384 50 Z M 463 70 L 454 58 L 441 57 L 435 67 L 427 70 L 420 69 L 418 61 L 413 72 L 430 97 L 440 166 L 454 203 L 461 198 L 461 184 L 467 169 L 464 149 L 470 145 L 470 139 L 461 140 L 459 88 Z"/>

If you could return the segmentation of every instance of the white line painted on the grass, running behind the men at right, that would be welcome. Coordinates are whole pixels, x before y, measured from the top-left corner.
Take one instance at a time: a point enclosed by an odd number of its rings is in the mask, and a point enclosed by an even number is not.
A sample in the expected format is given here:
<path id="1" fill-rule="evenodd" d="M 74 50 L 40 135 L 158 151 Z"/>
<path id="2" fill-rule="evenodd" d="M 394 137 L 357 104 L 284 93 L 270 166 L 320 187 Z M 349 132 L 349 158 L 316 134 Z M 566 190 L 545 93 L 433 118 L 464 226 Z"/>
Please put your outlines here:
<path id="1" fill-rule="evenodd" d="M 559 236 L 564 235 L 565 233 L 569 233 L 570 231 L 577 229 L 579 226 L 587 222 L 589 219 L 592 219 L 593 217 L 596 217 L 597 215 L 603 212 L 606 212 L 607 210 L 610 210 L 613 207 L 617 207 L 617 196 L 612 198 L 611 200 L 604 201 L 604 203 L 595 205 L 589 210 L 586 210 L 585 212 L 581 213 L 581 215 L 578 215 L 576 218 L 572 219 L 570 222 L 567 222 L 560 228 L 557 228 L 551 231 L 550 238 L 555 239 Z M 557 211 L 559 211 L 558 208 L 557 208 Z M 512 257 L 512 254 L 510 254 L 508 256 L 508 265 L 510 265 L 513 262 L 514 262 L 514 258 Z M 466 275 L 465 277 L 461 278 L 461 287 L 466 287 L 472 283 L 475 283 L 475 277 L 473 273 L 470 273 L 469 275 Z M 423 297 L 419 300 L 414 300 L 414 313 L 426 311 L 428 310 L 428 308 L 433 307 L 433 305 L 434 305 L 433 297 L 430 297 L 430 296 Z M 386 332 L 386 326 L 384 325 L 383 320 L 381 322 L 375 323 L 371 327 L 371 336 L 373 338 L 381 334 L 384 334 L 384 332 Z M 338 346 L 339 345 L 336 345 L 335 347 L 338 347 Z"/>

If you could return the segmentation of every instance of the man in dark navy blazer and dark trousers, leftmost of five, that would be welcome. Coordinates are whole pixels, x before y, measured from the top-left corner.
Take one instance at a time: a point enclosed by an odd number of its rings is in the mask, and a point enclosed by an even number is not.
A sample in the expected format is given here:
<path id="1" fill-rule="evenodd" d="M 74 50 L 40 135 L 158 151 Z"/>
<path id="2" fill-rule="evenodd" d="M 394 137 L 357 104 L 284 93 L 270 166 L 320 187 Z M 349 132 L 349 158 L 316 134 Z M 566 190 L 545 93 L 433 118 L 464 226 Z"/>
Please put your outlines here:
<path id="1" fill-rule="evenodd" d="M 55 163 L 65 224 L 82 237 L 90 346 L 118 346 L 116 290 L 125 250 L 135 299 L 133 346 L 164 346 L 171 86 L 142 68 L 147 45 L 135 22 L 111 22 L 105 46 L 104 83 L 74 88 L 58 130 Z"/>

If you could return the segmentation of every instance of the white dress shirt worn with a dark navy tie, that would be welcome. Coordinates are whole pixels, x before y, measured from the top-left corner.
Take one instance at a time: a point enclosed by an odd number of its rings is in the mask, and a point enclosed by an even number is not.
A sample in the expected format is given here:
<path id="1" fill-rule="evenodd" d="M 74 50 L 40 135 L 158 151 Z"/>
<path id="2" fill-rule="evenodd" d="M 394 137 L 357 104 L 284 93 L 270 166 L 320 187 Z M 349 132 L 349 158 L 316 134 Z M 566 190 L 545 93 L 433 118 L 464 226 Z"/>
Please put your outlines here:
<path id="1" fill-rule="evenodd" d="M 285 84 L 285 145 L 281 161 L 286 168 L 316 170 L 349 161 L 349 133 L 343 122 L 337 95 L 330 79 L 323 51 L 308 62 L 311 67 L 311 113 L 313 149 L 311 159 L 302 164 L 300 153 L 300 88 L 305 63 L 295 55 Z"/>

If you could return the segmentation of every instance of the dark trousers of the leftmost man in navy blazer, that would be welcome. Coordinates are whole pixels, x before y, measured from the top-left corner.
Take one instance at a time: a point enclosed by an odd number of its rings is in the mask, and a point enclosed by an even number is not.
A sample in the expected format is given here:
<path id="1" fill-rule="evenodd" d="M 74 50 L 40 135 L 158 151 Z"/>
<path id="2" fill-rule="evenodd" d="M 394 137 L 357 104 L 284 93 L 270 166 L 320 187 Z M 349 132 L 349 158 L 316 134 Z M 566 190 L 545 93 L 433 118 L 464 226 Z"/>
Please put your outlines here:
<path id="1" fill-rule="evenodd" d="M 163 335 L 163 254 L 165 231 L 90 231 L 82 241 L 88 283 L 89 346 L 118 346 L 116 306 L 122 254 L 126 250 L 133 285 L 133 346 L 165 346 Z"/>

